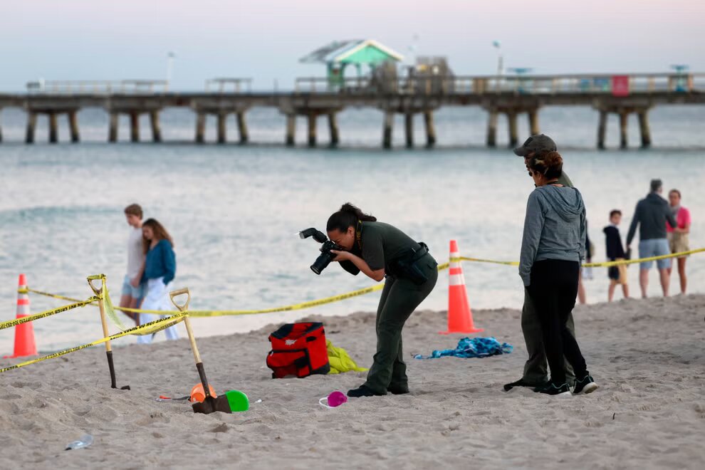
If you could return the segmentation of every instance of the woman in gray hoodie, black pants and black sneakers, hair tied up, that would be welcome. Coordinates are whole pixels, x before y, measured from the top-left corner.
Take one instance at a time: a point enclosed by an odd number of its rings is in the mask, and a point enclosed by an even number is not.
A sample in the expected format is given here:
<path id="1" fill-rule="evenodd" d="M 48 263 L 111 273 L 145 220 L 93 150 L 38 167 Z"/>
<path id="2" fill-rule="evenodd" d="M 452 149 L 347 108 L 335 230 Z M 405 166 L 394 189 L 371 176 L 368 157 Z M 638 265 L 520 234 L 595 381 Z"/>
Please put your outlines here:
<path id="1" fill-rule="evenodd" d="M 565 322 L 578 295 L 580 260 L 585 258 L 585 204 L 578 189 L 558 183 L 563 158 L 546 152 L 529 164 L 536 189 L 526 203 L 519 276 L 536 304 L 550 381 L 536 387 L 548 395 L 570 395 L 563 356 L 575 370 L 574 395 L 597 389 L 578 342 Z"/>

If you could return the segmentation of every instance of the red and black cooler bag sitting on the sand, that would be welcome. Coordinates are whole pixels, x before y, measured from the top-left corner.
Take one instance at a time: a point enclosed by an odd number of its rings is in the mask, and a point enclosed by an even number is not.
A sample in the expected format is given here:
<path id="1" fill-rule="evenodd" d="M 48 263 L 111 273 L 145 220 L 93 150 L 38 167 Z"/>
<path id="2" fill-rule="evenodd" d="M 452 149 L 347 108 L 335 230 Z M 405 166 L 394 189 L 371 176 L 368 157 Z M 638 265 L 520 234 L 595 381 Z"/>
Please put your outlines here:
<path id="1" fill-rule="evenodd" d="M 287 323 L 269 335 L 269 342 L 267 367 L 273 379 L 330 372 L 323 323 Z"/>

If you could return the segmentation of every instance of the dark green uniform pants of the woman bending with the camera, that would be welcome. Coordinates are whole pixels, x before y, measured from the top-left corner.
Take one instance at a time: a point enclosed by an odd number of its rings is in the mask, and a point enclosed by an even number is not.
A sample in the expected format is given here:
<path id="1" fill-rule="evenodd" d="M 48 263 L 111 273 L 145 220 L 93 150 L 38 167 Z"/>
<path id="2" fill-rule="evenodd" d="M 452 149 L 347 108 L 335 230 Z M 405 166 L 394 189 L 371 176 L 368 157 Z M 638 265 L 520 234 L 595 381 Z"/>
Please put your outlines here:
<path id="1" fill-rule="evenodd" d="M 428 281 L 417 286 L 404 278 L 387 277 L 377 308 L 377 352 L 367 373 L 365 386 L 386 394 L 387 387 L 407 386 L 407 365 L 402 353 L 402 328 L 407 318 L 433 291 L 438 279 L 437 263 L 427 254 L 419 261 Z"/>

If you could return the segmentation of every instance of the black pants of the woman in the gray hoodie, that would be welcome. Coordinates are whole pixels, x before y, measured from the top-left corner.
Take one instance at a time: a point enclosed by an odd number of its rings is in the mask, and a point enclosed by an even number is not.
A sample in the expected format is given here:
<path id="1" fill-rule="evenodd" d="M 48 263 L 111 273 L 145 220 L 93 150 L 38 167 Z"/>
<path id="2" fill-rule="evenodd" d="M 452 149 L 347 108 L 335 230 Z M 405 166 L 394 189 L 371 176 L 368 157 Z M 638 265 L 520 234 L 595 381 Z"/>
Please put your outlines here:
<path id="1" fill-rule="evenodd" d="M 578 341 L 566 326 L 578 296 L 579 272 L 580 263 L 577 261 L 557 259 L 536 261 L 531 268 L 528 293 L 536 305 L 550 378 L 556 385 L 565 383 L 563 355 L 573 366 L 575 377 L 584 377 L 588 369 Z"/>

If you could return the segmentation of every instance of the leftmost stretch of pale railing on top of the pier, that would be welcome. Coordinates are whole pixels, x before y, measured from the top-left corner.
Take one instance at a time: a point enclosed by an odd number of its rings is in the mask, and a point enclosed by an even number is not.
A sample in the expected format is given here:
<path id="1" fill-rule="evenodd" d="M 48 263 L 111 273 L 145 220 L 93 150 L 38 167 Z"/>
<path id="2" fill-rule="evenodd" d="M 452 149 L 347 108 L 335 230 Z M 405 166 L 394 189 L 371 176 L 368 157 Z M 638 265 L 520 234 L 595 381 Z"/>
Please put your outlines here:
<path id="1" fill-rule="evenodd" d="M 167 80 L 36 80 L 27 83 L 31 94 L 112 95 L 166 93 Z"/>

